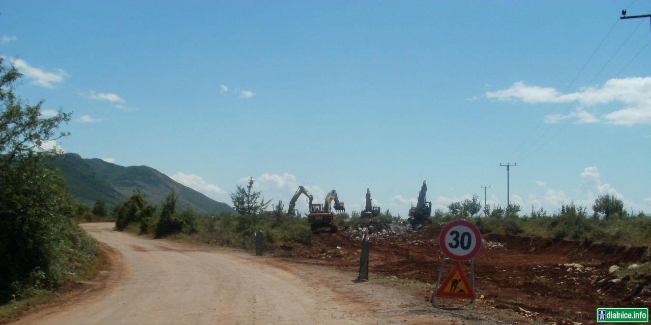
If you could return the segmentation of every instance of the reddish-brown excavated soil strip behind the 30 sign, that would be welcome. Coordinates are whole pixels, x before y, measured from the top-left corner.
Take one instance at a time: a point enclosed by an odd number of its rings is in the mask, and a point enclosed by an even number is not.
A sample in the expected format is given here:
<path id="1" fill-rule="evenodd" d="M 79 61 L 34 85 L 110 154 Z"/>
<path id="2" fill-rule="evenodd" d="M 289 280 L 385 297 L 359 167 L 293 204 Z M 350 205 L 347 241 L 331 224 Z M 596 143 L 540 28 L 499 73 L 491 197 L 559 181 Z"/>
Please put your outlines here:
<path id="1" fill-rule="evenodd" d="M 434 290 L 442 261 L 437 247 L 440 231 L 441 225 L 432 225 L 419 231 L 371 235 L 370 272 L 430 283 Z M 293 247 L 279 255 L 357 270 L 361 241 L 356 237 L 355 231 L 322 233 L 311 247 Z M 485 235 L 475 262 L 478 296 L 484 297 L 484 303 L 539 321 L 594 322 L 598 306 L 650 304 L 650 296 L 634 296 L 639 287 L 627 285 L 626 279 L 617 281 L 608 270 L 611 265 L 651 261 L 650 252 L 647 247 Z M 450 272 L 453 264 L 446 264 L 445 272 Z M 464 267 L 469 274 L 469 263 Z"/>

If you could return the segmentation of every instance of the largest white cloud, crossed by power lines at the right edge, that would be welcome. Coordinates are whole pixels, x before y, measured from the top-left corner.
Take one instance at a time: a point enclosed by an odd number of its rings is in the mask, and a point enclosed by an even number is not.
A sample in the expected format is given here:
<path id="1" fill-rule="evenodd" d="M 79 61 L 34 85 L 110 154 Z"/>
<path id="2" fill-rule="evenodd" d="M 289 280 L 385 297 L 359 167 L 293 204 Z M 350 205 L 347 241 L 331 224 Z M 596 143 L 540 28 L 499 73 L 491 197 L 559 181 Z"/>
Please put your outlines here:
<path id="1" fill-rule="evenodd" d="M 610 79 L 600 87 L 588 86 L 582 92 L 562 94 L 553 87 L 527 86 L 522 81 L 495 92 L 486 92 L 487 98 L 501 101 L 519 100 L 525 103 L 570 103 L 576 101 L 581 107 L 622 103 L 613 112 L 603 114 L 607 123 L 616 125 L 651 124 L 651 77 Z M 583 109 L 566 116 L 547 116 L 546 122 L 554 123 L 567 118 L 578 118 L 579 123 L 594 123 L 598 119 Z"/>

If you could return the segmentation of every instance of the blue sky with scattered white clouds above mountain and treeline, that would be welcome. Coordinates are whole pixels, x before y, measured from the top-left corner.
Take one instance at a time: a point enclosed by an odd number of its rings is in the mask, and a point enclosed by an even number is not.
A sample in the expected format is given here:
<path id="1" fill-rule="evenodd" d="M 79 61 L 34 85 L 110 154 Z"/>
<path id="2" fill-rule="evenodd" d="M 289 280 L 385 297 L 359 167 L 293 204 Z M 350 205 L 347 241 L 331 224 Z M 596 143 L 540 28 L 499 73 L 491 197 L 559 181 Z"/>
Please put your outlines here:
<path id="1" fill-rule="evenodd" d="M 66 151 L 227 203 L 252 175 L 349 211 L 370 188 L 406 216 L 424 179 L 436 207 L 482 185 L 505 205 L 517 162 L 524 211 L 650 212 L 651 31 L 618 17 L 651 2 L 631 2 L 4 1 L 0 54 L 44 115 L 74 112 Z"/>

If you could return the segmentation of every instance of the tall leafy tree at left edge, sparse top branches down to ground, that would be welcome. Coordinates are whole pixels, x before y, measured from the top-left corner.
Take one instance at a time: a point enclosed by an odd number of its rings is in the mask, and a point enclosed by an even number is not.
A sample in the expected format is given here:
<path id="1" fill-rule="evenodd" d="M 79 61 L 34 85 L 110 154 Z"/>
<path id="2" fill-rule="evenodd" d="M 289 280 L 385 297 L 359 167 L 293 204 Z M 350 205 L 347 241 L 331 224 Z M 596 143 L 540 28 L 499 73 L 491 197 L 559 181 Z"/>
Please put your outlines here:
<path id="1" fill-rule="evenodd" d="M 49 146 L 70 113 L 43 118 L 14 94 L 21 74 L 0 57 L 0 304 L 59 289 L 98 253 L 72 220 L 61 171 L 48 165 L 61 150 Z"/>

